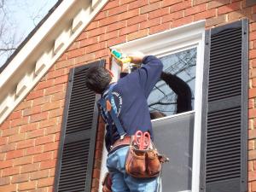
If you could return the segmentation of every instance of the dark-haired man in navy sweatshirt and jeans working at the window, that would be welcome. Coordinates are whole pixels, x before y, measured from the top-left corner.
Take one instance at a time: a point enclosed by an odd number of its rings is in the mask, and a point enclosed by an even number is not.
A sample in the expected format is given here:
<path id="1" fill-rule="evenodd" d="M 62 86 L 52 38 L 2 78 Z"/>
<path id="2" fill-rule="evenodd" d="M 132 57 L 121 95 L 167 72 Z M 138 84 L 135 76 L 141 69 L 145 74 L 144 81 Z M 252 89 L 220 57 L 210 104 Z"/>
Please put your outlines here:
<path id="1" fill-rule="evenodd" d="M 125 156 L 131 141 L 131 136 L 138 130 L 150 133 L 154 140 L 147 98 L 160 79 L 163 64 L 153 55 L 131 55 L 131 63 L 142 64 L 142 67 L 127 74 L 118 81 L 103 67 L 92 67 L 88 70 L 86 85 L 90 90 L 101 94 L 108 100 L 108 90 L 111 88 L 116 116 L 125 131 L 125 137 L 120 138 L 119 129 L 110 115 L 104 112 L 102 116 L 107 123 L 105 143 L 108 149 L 107 166 L 112 178 L 113 192 L 155 192 L 158 188 L 158 178 L 136 178 L 125 172 Z M 125 64 L 123 70 L 127 69 Z M 112 107 L 113 107 L 112 106 Z"/>

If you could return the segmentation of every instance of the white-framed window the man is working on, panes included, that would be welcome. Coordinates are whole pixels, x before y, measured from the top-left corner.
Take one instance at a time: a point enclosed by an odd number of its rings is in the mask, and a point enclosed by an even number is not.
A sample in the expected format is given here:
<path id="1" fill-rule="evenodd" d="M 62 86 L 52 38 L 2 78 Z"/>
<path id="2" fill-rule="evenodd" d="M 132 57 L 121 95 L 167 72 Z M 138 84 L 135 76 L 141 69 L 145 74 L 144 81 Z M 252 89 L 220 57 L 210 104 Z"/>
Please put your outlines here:
<path id="1" fill-rule="evenodd" d="M 201 86 L 196 86 L 196 84 L 201 84 L 202 78 L 202 70 L 200 68 L 203 60 L 203 53 L 201 51 L 203 50 L 204 31 L 204 21 L 201 21 L 168 32 L 160 32 L 159 34 L 113 48 L 122 49 L 125 53 L 138 50 L 142 51 L 145 55 L 156 55 L 164 64 L 163 80 L 156 84 L 154 90 L 148 96 L 148 108 L 152 113 L 160 114 L 160 116 L 153 119 L 155 140 L 164 141 L 161 134 L 170 135 L 170 137 L 165 137 L 165 139 L 168 140 L 168 146 L 173 148 L 172 153 L 166 151 L 164 147 L 166 143 L 156 143 L 160 152 L 167 154 L 171 158 L 172 163 L 167 163 L 164 166 L 165 170 L 167 172 L 176 170 L 175 172 L 170 172 L 172 178 L 175 177 L 176 172 L 180 174 L 179 177 L 183 177 L 183 181 L 180 178 L 176 180 L 170 179 L 172 180 L 171 183 L 170 180 L 163 180 L 162 191 L 164 192 L 189 191 L 192 187 L 193 174 L 199 175 L 199 167 L 194 167 L 193 170 L 196 170 L 194 172 L 191 170 L 193 161 L 197 161 L 198 164 L 200 160 L 200 143 L 197 143 L 199 142 L 198 140 L 194 143 L 193 138 L 195 137 L 195 123 L 198 124 L 198 119 L 200 119 L 200 116 L 197 119 L 195 118 L 195 110 L 200 109 L 199 107 L 196 109 L 196 105 L 199 105 L 199 101 L 201 101 L 201 94 L 199 94 Z M 116 72 L 118 73 L 117 70 Z M 172 77 L 170 77 L 170 73 Z M 170 81 L 173 80 L 183 84 L 183 90 L 188 91 L 190 95 L 183 96 L 183 91 L 180 92 L 178 89 L 173 89 L 173 87 L 171 89 Z M 195 98 L 195 96 L 198 98 Z M 183 105 L 184 100 L 188 101 L 188 105 Z M 170 123 L 175 124 L 172 130 L 168 129 Z M 183 127 L 181 128 L 181 126 Z M 200 130 L 200 126 L 196 127 Z M 197 133 L 200 136 L 200 131 L 197 131 Z M 177 139 L 173 140 L 172 137 Z M 183 142 L 182 148 L 180 144 L 178 144 L 179 146 L 177 145 L 177 140 L 179 143 Z M 197 146 L 197 150 L 193 151 L 194 145 Z M 177 147 L 175 148 L 175 146 Z M 175 160 L 177 163 L 174 164 L 173 156 L 177 156 L 178 152 L 180 152 L 178 157 L 180 159 Z M 106 157 L 107 152 L 105 151 L 102 162 L 106 162 Z M 104 164 L 102 164 L 102 170 L 104 170 L 102 171 L 103 177 L 103 172 L 107 172 Z M 163 174 L 165 175 L 167 172 L 163 172 Z M 170 177 L 170 175 L 165 177 Z M 198 177 L 197 182 L 199 183 Z M 169 184 L 172 184 L 171 190 Z"/>

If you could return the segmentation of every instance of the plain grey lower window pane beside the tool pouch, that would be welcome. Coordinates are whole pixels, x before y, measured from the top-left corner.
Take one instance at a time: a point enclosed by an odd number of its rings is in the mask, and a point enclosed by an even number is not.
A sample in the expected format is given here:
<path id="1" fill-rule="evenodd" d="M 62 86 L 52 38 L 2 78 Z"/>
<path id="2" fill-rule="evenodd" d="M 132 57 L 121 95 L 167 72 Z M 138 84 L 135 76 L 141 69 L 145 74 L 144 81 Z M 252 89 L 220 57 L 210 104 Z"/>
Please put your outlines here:
<path id="1" fill-rule="evenodd" d="M 162 192 L 191 190 L 194 112 L 153 121 L 154 142 L 170 159 L 162 169 Z"/>

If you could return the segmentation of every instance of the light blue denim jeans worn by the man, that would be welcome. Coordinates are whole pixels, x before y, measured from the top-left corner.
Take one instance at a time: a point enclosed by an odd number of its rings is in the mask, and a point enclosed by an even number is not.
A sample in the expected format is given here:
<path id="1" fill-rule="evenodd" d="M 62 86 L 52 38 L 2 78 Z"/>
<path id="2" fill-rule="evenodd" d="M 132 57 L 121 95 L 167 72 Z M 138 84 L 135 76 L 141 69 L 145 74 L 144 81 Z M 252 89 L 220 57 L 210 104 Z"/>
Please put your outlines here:
<path id="1" fill-rule="evenodd" d="M 107 166 L 112 177 L 113 192 L 157 192 L 159 177 L 136 178 L 125 172 L 125 156 L 129 146 L 108 155 Z"/>

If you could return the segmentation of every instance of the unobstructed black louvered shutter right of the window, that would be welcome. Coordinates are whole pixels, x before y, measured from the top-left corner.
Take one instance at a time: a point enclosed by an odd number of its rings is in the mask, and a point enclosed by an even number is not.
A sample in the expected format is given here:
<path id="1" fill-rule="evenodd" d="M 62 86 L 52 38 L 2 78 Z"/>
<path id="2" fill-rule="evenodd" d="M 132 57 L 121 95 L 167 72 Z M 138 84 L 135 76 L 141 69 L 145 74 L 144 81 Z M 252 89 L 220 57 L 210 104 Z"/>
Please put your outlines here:
<path id="1" fill-rule="evenodd" d="M 247 20 L 206 32 L 201 191 L 247 191 Z"/>

